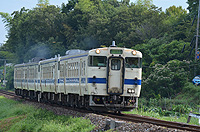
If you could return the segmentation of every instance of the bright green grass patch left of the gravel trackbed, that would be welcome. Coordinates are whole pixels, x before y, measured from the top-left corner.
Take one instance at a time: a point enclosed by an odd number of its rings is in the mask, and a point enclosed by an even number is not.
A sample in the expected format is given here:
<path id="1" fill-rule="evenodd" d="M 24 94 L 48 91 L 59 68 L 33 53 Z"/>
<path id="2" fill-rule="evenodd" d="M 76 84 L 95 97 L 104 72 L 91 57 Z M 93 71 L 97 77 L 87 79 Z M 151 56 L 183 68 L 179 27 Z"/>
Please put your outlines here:
<path id="1" fill-rule="evenodd" d="M 94 128 L 90 120 L 58 116 L 0 96 L 0 131 L 88 132 Z"/>

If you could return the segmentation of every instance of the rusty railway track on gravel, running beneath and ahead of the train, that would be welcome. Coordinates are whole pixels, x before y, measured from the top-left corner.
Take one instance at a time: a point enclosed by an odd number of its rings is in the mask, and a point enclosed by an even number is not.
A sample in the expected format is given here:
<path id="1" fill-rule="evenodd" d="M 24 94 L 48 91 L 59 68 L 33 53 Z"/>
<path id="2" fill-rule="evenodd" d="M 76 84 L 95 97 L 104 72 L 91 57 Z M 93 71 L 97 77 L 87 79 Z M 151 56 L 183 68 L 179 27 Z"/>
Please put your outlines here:
<path id="1" fill-rule="evenodd" d="M 14 92 L 8 92 L 5 90 L 0 90 L 0 93 L 6 94 L 9 96 L 16 96 Z M 77 111 L 79 111 L 79 110 L 77 110 Z M 81 111 L 79 111 L 79 112 L 81 112 Z M 85 112 L 85 110 L 84 110 L 84 112 Z M 91 111 L 89 111 L 88 113 L 91 113 Z M 111 118 L 116 118 L 116 119 L 120 119 L 120 120 L 124 120 L 124 121 L 145 122 L 145 123 L 150 123 L 150 124 L 154 124 L 157 126 L 164 126 L 164 127 L 168 127 L 168 128 L 200 132 L 200 126 L 198 126 L 198 125 L 190 125 L 187 123 L 164 121 L 164 120 L 159 120 L 159 119 L 151 118 L 151 117 L 147 117 L 147 116 L 140 116 L 140 115 L 135 115 L 135 114 L 116 115 L 113 113 L 101 113 L 100 115 L 108 116 Z"/>

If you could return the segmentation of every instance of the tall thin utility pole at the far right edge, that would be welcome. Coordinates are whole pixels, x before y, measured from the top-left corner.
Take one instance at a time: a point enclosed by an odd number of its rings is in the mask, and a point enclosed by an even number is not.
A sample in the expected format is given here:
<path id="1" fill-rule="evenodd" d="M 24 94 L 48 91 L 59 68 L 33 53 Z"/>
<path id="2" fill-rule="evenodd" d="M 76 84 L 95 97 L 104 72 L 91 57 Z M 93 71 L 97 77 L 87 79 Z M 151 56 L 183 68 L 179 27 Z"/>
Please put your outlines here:
<path id="1" fill-rule="evenodd" d="M 198 8 L 198 19 L 197 19 L 197 35 L 196 35 L 196 46 L 195 46 L 195 63 L 197 62 L 197 50 L 198 50 L 198 40 L 199 40 L 199 17 L 200 17 L 200 0 L 199 0 L 199 8 Z M 196 66 L 194 68 L 196 75 Z"/>

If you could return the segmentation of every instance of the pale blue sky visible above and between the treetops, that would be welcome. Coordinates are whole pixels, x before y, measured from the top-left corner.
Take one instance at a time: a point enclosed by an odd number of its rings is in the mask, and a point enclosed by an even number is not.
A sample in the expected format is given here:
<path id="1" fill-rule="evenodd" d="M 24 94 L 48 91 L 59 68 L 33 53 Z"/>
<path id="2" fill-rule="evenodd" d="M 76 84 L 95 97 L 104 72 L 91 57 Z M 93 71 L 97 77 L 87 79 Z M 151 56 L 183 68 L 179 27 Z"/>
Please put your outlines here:
<path id="1" fill-rule="evenodd" d="M 131 0 L 135 2 L 136 0 Z M 62 3 L 67 4 L 68 0 L 49 0 L 51 5 L 61 6 Z M 187 8 L 187 0 L 153 0 L 153 4 L 157 7 L 162 7 L 162 10 L 165 11 L 166 8 L 170 6 L 182 6 L 184 9 Z M 26 9 L 33 9 L 36 7 L 38 0 L 1 0 L 0 2 L 0 12 L 5 12 L 11 14 L 14 11 L 20 10 L 22 7 Z M 2 22 L 0 17 L 0 45 L 5 43 L 7 30 L 5 29 L 5 24 Z"/>

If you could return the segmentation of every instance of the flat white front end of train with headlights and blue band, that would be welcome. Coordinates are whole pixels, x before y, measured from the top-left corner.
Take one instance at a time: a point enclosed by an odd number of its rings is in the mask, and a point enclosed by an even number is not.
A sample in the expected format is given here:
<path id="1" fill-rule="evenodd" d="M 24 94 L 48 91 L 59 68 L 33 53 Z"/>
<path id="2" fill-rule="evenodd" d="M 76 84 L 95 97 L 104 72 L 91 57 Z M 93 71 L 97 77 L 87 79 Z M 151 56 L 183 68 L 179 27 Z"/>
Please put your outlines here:
<path id="1" fill-rule="evenodd" d="M 141 52 L 126 48 L 91 50 L 88 56 L 90 105 L 111 110 L 137 107 L 141 90 L 141 58 Z"/>

